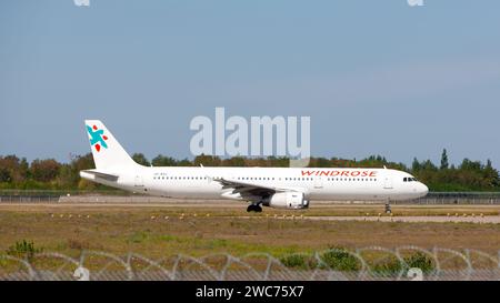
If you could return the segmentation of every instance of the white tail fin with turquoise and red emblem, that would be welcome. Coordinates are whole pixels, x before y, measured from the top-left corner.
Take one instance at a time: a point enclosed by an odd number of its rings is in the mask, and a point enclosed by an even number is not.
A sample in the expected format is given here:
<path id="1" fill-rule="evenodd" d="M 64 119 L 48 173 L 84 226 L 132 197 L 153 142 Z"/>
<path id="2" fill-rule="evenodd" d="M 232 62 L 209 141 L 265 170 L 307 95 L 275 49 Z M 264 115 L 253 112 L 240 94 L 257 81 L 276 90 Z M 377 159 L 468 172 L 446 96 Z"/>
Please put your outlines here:
<path id="1" fill-rule="evenodd" d="M 93 162 L 100 171 L 120 171 L 139 166 L 99 120 L 86 120 Z"/>

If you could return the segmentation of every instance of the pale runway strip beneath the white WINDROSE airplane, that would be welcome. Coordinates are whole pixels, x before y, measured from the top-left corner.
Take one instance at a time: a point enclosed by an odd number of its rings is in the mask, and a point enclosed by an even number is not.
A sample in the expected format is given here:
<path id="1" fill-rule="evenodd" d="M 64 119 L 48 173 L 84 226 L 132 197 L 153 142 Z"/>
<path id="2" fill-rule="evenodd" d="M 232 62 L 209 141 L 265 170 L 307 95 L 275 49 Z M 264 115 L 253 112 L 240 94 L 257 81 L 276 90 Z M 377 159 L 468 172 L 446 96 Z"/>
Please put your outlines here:
<path id="1" fill-rule="evenodd" d="M 500 224 L 499 205 L 393 205 L 392 215 L 383 213 L 381 204 L 318 203 L 308 210 L 291 211 L 264 208 L 261 213 L 247 213 L 240 201 L 184 201 L 153 200 L 127 201 L 123 199 L 92 198 L 52 203 L 2 202 L 0 211 L 44 212 L 70 215 L 72 213 L 163 212 L 171 219 L 220 218 L 240 220 L 301 220 L 353 221 L 392 223 L 478 223 Z"/>

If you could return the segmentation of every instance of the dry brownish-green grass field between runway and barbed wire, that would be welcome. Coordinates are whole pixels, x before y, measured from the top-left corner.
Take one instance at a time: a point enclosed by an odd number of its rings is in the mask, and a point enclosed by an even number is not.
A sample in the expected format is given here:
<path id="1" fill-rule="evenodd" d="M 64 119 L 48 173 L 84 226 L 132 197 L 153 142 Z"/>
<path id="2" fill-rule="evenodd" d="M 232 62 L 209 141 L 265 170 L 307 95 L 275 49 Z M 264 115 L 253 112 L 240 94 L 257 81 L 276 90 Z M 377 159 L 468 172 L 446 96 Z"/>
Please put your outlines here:
<path id="1" fill-rule="evenodd" d="M 78 256 L 81 250 L 114 254 L 136 252 L 149 257 L 212 253 L 243 255 L 267 252 L 276 256 L 329 248 L 392 249 L 400 245 L 454 250 L 476 249 L 496 255 L 500 224 L 398 223 L 280 220 L 287 215 L 376 215 L 380 205 L 342 205 L 287 212 L 266 209 L 250 218 L 244 208 L 182 208 L 123 205 L 0 205 L 0 252 L 16 242 L 33 241 L 46 252 Z M 396 215 L 483 213 L 498 206 L 393 206 Z M 184 214 L 184 215 L 182 215 Z M 207 215 L 209 214 L 209 215 Z M 269 214 L 269 216 L 266 216 Z M 168 216 L 168 219 L 166 219 Z"/>

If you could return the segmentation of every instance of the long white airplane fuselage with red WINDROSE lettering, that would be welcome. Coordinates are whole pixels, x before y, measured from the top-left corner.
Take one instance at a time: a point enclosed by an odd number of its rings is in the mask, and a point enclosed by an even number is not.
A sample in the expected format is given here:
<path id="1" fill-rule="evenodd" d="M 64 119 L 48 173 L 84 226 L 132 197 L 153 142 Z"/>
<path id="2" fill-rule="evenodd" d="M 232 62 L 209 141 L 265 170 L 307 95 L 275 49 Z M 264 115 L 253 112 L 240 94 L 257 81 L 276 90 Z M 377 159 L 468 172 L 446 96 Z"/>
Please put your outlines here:
<path id="1" fill-rule="evenodd" d="M 304 199 L 329 201 L 398 201 L 423 196 L 428 188 L 410 174 L 390 169 L 313 168 L 190 168 L 137 166 L 134 171 L 111 171 L 108 181 L 82 172 L 82 176 L 106 185 L 158 196 L 180 199 L 249 200 L 216 180 L 263 188 L 290 189 Z M 411 180 L 411 181 L 410 181 Z M 256 196 L 254 200 L 258 200 Z"/>

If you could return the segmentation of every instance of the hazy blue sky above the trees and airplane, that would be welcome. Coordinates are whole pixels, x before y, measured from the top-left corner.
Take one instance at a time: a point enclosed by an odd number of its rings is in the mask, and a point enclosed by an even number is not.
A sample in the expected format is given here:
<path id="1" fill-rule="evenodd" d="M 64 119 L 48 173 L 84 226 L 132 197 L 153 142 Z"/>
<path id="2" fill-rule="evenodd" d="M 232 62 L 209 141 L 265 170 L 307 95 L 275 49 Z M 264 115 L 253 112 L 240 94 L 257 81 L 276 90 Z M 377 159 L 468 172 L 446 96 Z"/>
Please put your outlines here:
<path id="1" fill-rule="evenodd" d="M 500 1 L 0 2 L 0 154 L 68 161 L 84 119 L 192 158 L 196 115 L 310 115 L 311 153 L 500 166 Z"/>

